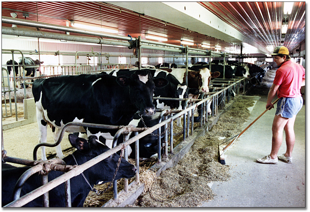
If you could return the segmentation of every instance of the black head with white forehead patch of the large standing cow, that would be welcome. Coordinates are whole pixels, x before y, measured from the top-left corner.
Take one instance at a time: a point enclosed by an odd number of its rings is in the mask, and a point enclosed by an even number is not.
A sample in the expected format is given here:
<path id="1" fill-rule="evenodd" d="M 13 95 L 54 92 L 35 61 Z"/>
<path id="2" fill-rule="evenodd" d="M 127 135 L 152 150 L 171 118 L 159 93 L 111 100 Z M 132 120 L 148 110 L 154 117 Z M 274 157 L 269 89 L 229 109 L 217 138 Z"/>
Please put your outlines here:
<path id="1" fill-rule="evenodd" d="M 153 105 L 155 84 L 148 70 L 137 70 L 131 74 L 130 78 L 119 76 L 117 82 L 122 86 L 129 85 L 130 101 L 142 115 L 155 113 Z"/>

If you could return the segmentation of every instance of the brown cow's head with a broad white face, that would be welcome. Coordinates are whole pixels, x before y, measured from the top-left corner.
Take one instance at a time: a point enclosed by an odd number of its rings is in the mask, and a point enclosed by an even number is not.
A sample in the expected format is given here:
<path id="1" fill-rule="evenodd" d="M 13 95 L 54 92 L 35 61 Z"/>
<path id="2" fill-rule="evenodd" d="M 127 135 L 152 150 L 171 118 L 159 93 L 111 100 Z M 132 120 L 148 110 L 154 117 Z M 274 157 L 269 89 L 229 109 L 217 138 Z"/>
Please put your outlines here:
<path id="1" fill-rule="evenodd" d="M 188 76 L 193 78 L 193 80 L 188 80 L 188 87 L 198 88 L 200 92 L 209 92 L 211 78 L 217 78 L 220 75 L 218 71 L 211 73 L 208 68 L 203 68 L 199 71 L 189 71 L 188 74 Z M 190 85 L 190 82 L 193 84 Z"/>

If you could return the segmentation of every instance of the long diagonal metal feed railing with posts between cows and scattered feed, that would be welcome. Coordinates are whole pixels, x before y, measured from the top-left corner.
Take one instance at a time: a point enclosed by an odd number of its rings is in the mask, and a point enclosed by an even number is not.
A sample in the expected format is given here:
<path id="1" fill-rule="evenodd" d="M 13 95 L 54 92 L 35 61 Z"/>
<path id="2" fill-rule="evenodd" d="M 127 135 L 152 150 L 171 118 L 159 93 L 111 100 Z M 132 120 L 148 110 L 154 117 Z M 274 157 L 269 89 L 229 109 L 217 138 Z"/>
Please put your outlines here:
<path id="1" fill-rule="evenodd" d="M 38 144 L 34 151 L 33 151 L 33 159 L 36 160 L 36 152 L 38 150 L 39 147 L 41 146 L 48 146 L 48 147 L 55 147 L 57 146 L 64 135 L 65 129 L 69 126 L 75 125 L 75 126 L 82 126 L 82 127 L 95 127 L 95 128 L 104 128 L 104 129 L 119 129 L 116 133 L 116 135 L 114 136 L 113 139 L 113 148 L 102 153 L 100 156 L 97 156 L 89 161 L 87 161 L 86 163 L 82 164 L 82 165 L 78 165 L 74 168 L 72 168 L 71 171 L 68 171 L 66 173 L 64 173 L 63 175 L 61 175 L 58 178 L 55 178 L 54 180 L 44 184 L 43 186 L 35 189 L 33 192 L 26 194 L 18 199 L 16 199 L 15 201 L 11 202 L 10 204 L 6 205 L 5 207 L 20 207 L 23 206 L 25 204 L 27 204 L 28 202 L 34 200 L 35 198 L 37 198 L 38 196 L 41 196 L 45 193 L 47 193 L 49 190 L 51 190 L 52 188 L 60 185 L 61 183 L 64 183 L 66 181 L 68 181 L 70 178 L 76 176 L 77 174 L 81 174 L 84 170 L 88 169 L 89 167 L 91 167 L 92 165 L 95 165 L 96 163 L 100 162 L 101 160 L 104 160 L 105 158 L 107 158 L 108 156 L 116 153 L 117 151 L 121 150 L 122 147 L 127 147 L 128 145 L 130 145 L 133 142 L 136 142 L 136 147 L 135 147 L 135 151 L 136 151 L 136 166 L 137 166 L 137 170 L 139 170 L 139 139 L 143 138 L 144 136 L 148 135 L 149 133 L 152 133 L 154 130 L 157 130 L 158 132 L 158 163 L 161 162 L 161 148 L 162 148 L 162 143 L 161 143 L 161 127 L 165 126 L 165 129 L 167 129 L 167 125 L 169 123 L 171 123 L 170 125 L 170 153 L 173 153 L 173 121 L 181 116 L 184 117 L 184 125 L 183 125 L 183 140 L 185 140 L 186 138 L 189 137 L 189 126 L 190 126 L 190 122 L 192 124 L 191 127 L 191 135 L 193 135 L 193 117 L 194 117 L 194 110 L 196 109 L 196 107 L 198 106 L 202 106 L 202 111 L 203 113 L 201 113 L 201 125 L 202 122 L 205 124 L 207 122 L 207 117 L 208 115 L 207 110 L 206 110 L 206 106 L 207 106 L 207 101 L 209 100 L 213 100 L 214 104 L 212 106 L 212 116 L 216 115 L 218 113 L 218 99 L 219 96 L 221 96 L 223 98 L 223 95 L 225 96 L 226 93 L 228 93 L 230 91 L 230 89 L 234 89 L 234 91 L 236 93 L 239 93 L 237 90 L 240 89 L 239 84 L 242 83 L 242 81 L 244 81 L 246 79 L 240 79 L 238 81 L 232 82 L 230 85 L 227 85 L 227 87 L 221 89 L 218 92 L 213 92 L 212 95 L 205 97 L 206 95 L 203 96 L 203 99 L 173 99 L 175 101 L 187 101 L 185 104 L 185 109 L 184 110 L 170 110 L 170 111 L 166 111 L 163 110 L 161 111 L 161 115 L 159 118 L 159 123 L 156 124 L 153 127 L 150 128 L 135 128 L 133 126 L 112 126 L 112 125 L 102 125 L 102 124 L 90 124 L 90 123 L 78 123 L 78 122 L 70 122 L 67 123 L 61 130 L 60 132 L 60 136 L 58 138 L 58 141 L 54 144 L 48 144 L 48 143 L 40 143 Z M 229 83 L 227 83 L 229 84 Z M 211 92 L 209 93 L 211 94 Z M 167 99 L 167 98 L 162 98 L 162 99 Z M 228 101 L 229 102 L 229 101 Z M 189 106 L 187 106 L 187 103 L 189 103 Z M 221 104 L 223 106 L 223 104 Z M 190 113 L 192 113 L 192 119 L 190 119 Z M 162 116 L 165 116 L 164 120 L 162 121 Z M 170 117 L 169 117 L 170 116 Z M 186 120 L 187 118 L 187 120 Z M 122 133 L 128 133 L 128 132 L 135 132 L 135 136 L 133 138 L 128 139 L 128 136 L 124 136 L 124 142 L 122 144 L 116 145 L 116 142 L 118 140 L 118 137 L 122 134 Z M 141 133 L 138 133 L 141 132 Z M 165 131 L 165 136 L 164 136 L 164 156 L 167 157 L 168 156 L 168 132 L 167 130 Z M 3 146 L 3 144 L 2 144 Z M 125 159 L 128 156 L 126 156 L 126 148 L 125 148 Z M 15 163 L 19 163 L 19 164 L 24 164 L 24 165 L 29 165 L 29 160 L 23 160 L 23 159 L 15 159 L 15 158 L 11 158 L 8 156 L 4 156 L 2 158 L 3 161 L 6 162 L 15 162 Z M 136 173 L 136 182 L 139 183 L 139 171 L 137 171 Z M 114 199 L 117 198 L 117 183 L 116 181 L 113 182 L 113 192 L 114 192 Z M 125 191 L 126 188 L 128 188 L 128 180 L 125 180 Z"/>

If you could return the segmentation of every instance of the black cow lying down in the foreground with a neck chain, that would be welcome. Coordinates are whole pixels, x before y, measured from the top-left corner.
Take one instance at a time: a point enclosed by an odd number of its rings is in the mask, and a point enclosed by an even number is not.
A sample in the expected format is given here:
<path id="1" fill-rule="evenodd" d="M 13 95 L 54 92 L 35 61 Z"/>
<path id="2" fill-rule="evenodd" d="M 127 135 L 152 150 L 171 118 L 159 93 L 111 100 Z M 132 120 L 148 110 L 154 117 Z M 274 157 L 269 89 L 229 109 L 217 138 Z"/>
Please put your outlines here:
<path id="1" fill-rule="evenodd" d="M 109 148 L 96 141 L 95 136 L 90 136 L 89 140 L 78 138 L 73 134 L 69 134 L 69 141 L 71 145 L 77 148 L 72 153 L 76 159 L 78 165 L 91 160 L 92 158 L 99 156 L 103 152 L 109 150 Z M 76 165 L 73 156 L 69 155 L 63 160 L 67 165 Z M 89 169 L 86 169 L 83 174 L 87 178 L 91 186 L 96 184 L 103 184 L 110 182 L 113 179 L 115 169 L 119 155 L 114 153 L 110 157 L 100 161 Z M 31 167 L 15 167 L 6 163 L 2 163 L 2 207 L 13 201 L 13 190 L 15 183 L 19 177 Z M 126 160 L 121 159 L 119 169 L 117 171 L 115 180 L 120 178 L 132 178 L 135 176 L 136 168 L 134 165 L 128 163 Z M 63 172 L 52 171 L 48 174 L 48 181 L 51 181 Z M 86 196 L 90 192 L 91 188 L 83 178 L 82 174 L 70 179 L 71 185 L 71 204 L 72 207 L 83 207 L 83 203 Z M 41 176 L 33 174 L 22 187 L 20 196 L 33 191 L 41 186 Z M 49 206 L 50 207 L 65 207 L 65 188 L 64 183 L 53 188 L 49 191 Z M 34 199 L 33 201 L 24 205 L 24 207 L 42 207 L 42 196 Z"/>

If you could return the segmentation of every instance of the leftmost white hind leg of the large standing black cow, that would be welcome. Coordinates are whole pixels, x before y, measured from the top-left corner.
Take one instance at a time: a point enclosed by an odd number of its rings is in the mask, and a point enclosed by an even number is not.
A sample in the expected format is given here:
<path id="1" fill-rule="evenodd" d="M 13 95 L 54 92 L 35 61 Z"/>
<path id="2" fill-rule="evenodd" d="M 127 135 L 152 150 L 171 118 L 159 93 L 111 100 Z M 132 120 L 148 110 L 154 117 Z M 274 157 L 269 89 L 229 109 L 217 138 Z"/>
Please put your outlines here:
<path id="1" fill-rule="evenodd" d="M 46 143 L 47 142 L 47 122 L 44 120 L 43 111 L 37 108 L 37 122 L 39 128 L 39 142 Z M 45 154 L 45 147 L 41 147 L 41 156 L 42 160 L 47 160 Z"/>

